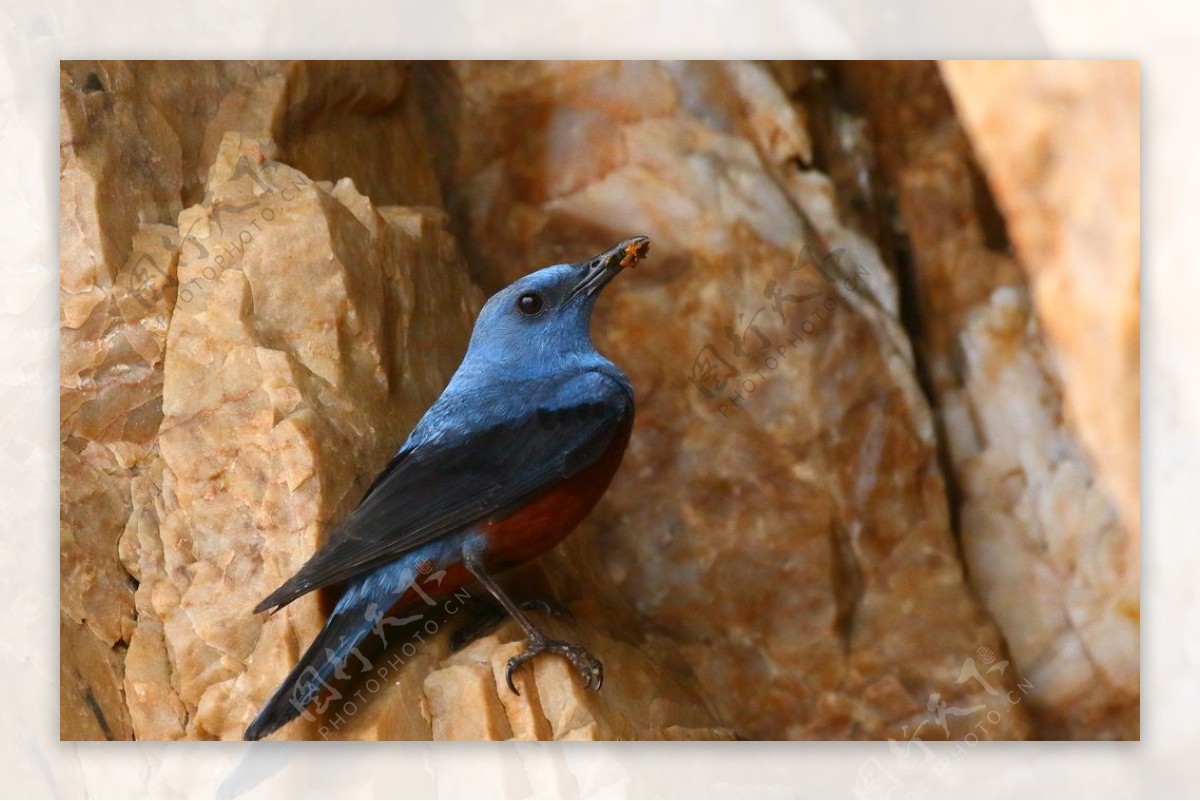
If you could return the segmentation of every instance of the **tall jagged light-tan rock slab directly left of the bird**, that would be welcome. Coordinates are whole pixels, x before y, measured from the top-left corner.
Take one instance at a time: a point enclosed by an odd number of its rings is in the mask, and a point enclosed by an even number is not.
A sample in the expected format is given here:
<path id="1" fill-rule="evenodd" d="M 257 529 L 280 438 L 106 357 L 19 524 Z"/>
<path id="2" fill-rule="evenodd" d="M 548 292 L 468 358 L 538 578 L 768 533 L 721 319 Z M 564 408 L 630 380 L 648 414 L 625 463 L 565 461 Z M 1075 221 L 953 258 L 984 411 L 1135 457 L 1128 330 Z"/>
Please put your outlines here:
<path id="1" fill-rule="evenodd" d="M 166 365 L 164 559 L 143 582 L 160 585 L 190 736 L 240 736 L 319 628 L 316 596 L 268 620 L 251 609 L 440 391 L 480 302 L 440 212 L 378 213 L 348 181 L 318 186 L 264 151 L 227 137 L 210 200 L 181 218 L 196 248 Z"/>

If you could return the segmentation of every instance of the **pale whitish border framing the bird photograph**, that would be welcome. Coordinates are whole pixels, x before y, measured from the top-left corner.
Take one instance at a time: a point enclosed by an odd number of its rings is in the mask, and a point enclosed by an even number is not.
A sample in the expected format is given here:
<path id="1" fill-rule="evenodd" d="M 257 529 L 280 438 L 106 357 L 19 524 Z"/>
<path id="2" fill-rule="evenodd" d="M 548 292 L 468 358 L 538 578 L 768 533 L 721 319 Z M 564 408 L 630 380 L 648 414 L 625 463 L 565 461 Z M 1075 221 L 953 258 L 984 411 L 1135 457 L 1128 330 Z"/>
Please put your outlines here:
<path id="1" fill-rule="evenodd" d="M 0 794 L 852 796 L 878 743 L 60 743 L 61 58 L 1135 58 L 1142 61 L 1141 743 L 994 743 L 937 796 L 1200 791 L 1200 4 L 1087 0 L 8 2 L 0 10 Z M 949 747 L 941 755 L 952 757 Z"/>

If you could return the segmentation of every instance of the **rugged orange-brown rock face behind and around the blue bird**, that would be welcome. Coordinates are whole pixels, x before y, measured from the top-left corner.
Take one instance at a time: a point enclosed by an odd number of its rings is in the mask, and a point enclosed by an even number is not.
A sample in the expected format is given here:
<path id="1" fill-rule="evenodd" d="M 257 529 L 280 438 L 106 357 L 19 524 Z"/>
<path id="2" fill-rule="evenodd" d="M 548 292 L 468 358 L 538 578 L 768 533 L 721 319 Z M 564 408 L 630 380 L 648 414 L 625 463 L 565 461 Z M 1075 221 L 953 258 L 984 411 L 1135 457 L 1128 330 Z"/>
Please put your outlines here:
<path id="1" fill-rule="evenodd" d="M 511 694 L 512 624 L 450 652 L 470 590 L 277 736 L 1135 736 L 1136 565 L 1073 374 L 936 68 L 911 120 L 847 113 L 872 68 L 65 64 L 64 739 L 240 737 L 330 598 L 252 607 L 485 294 L 634 234 L 594 325 L 625 463 L 505 579 L 570 608 L 602 692 L 542 658 Z"/>

